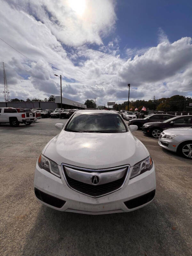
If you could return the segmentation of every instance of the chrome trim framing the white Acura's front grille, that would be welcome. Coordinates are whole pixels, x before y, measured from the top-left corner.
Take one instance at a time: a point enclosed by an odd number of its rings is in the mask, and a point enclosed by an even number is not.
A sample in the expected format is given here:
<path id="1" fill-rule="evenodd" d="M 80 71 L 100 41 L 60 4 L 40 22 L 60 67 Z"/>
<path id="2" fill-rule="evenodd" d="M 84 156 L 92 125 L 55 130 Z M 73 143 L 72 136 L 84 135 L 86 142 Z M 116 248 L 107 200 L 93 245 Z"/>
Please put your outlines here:
<path id="1" fill-rule="evenodd" d="M 115 190 L 112 190 L 112 191 L 110 191 L 110 192 L 108 192 L 108 193 L 104 193 L 104 194 L 99 195 L 99 196 L 92 196 L 92 195 L 83 193 L 83 192 L 81 192 L 81 191 L 78 191 L 77 189 L 72 188 L 72 187 L 70 186 L 70 184 L 68 183 L 68 180 L 67 180 L 67 178 L 66 178 L 66 175 L 65 175 L 65 168 L 64 168 L 65 166 L 66 166 L 66 167 L 71 167 L 71 168 L 73 168 L 73 169 L 80 170 L 80 171 L 87 171 L 88 173 L 91 172 L 90 174 L 92 174 L 92 175 L 95 175 L 96 172 L 106 172 L 106 171 L 111 171 L 111 172 L 113 172 L 113 171 L 118 170 L 118 169 L 126 168 L 126 171 L 125 171 L 125 172 L 126 172 L 126 176 L 125 176 L 125 178 L 124 178 L 124 181 L 123 181 L 122 185 L 121 185 L 119 188 L 117 188 L 117 189 L 115 189 Z M 61 164 L 61 169 L 62 169 L 62 173 L 63 173 L 63 177 L 64 177 L 64 179 L 65 179 L 65 182 L 66 182 L 66 184 L 67 184 L 67 186 L 68 186 L 69 188 L 71 188 L 72 190 L 74 190 L 74 191 L 76 191 L 76 192 L 78 192 L 78 193 L 80 193 L 80 194 L 83 194 L 83 195 L 85 195 L 85 196 L 89 196 L 89 197 L 92 197 L 92 198 L 98 198 L 98 197 L 101 197 L 101 196 L 107 196 L 107 195 L 109 195 L 109 194 L 111 194 L 111 193 L 114 193 L 114 192 L 118 191 L 119 189 L 123 188 L 123 186 L 124 186 L 124 184 L 125 184 L 125 182 L 126 182 L 126 180 L 127 180 L 129 171 L 130 171 L 130 165 L 129 165 L 129 164 L 126 164 L 126 165 L 123 165 L 123 166 L 117 166 L 117 167 L 107 168 L 107 169 L 88 169 L 88 168 L 77 167 L 77 166 L 69 165 L 69 164 Z M 98 173 L 98 175 L 100 175 L 100 174 L 101 174 L 101 173 Z M 69 177 L 69 178 L 70 178 L 70 177 Z M 84 183 L 84 182 L 82 182 L 82 183 Z M 86 184 L 86 183 L 84 183 L 84 184 Z M 108 184 L 108 183 L 105 183 L 105 184 Z M 105 185 L 105 184 L 101 184 L 101 185 Z M 92 185 L 92 186 L 95 188 L 94 185 Z M 99 186 L 99 185 L 98 185 L 98 186 Z"/>

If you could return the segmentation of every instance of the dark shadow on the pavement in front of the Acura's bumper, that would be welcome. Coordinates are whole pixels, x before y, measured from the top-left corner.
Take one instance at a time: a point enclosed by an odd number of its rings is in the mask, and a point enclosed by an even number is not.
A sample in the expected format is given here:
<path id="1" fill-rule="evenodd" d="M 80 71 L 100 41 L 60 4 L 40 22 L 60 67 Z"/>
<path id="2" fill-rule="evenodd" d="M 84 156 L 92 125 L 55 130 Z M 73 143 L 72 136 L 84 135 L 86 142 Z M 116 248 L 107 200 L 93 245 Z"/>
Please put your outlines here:
<path id="1" fill-rule="evenodd" d="M 154 200 L 134 212 L 94 216 L 42 205 L 22 255 L 190 255 L 165 208 Z"/>

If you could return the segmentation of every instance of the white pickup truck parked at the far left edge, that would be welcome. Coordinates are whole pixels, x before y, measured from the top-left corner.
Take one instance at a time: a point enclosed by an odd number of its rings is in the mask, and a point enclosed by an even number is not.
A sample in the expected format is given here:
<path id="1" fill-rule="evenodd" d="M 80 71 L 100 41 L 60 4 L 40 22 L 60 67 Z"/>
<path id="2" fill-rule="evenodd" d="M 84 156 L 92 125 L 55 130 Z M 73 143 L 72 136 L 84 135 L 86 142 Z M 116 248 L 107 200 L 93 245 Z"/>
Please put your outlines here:
<path id="1" fill-rule="evenodd" d="M 19 112 L 16 108 L 0 108 L 0 124 L 9 123 L 13 127 L 18 127 L 20 124 L 30 125 L 36 120 L 35 113 Z"/>

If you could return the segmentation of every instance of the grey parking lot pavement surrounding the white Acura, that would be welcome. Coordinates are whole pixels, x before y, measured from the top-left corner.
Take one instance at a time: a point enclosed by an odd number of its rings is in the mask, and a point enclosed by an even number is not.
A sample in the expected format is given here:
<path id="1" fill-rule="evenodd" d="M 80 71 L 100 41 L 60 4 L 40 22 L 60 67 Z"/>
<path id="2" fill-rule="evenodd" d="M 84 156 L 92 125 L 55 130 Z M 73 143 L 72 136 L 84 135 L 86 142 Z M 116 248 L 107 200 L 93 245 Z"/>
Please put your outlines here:
<path id="1" fill-rule="evenodd" d="M 156 198 L 134 212 L 83 215 L 59 212 L 34 195 L 36 160 L 66 119 L 30 126 L 0 125 L 0 255 L 191 255 L 192 161 L 133 132 L 156 166 Z M 114 149 L 118 150 L 118 148 Z"/>

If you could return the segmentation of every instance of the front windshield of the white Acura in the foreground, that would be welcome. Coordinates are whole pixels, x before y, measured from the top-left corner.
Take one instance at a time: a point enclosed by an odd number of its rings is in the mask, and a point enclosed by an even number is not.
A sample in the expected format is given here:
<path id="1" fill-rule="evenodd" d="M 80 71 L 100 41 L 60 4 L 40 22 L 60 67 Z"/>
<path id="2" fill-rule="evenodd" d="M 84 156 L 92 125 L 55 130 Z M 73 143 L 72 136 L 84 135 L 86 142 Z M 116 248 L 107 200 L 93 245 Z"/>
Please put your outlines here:
<path id="1" fill-rule="evenodd" d="M 110 132 L 122 133 L 127 129 L 118 114 L 76 113 L 68 123 L 69 132 Z"/>

